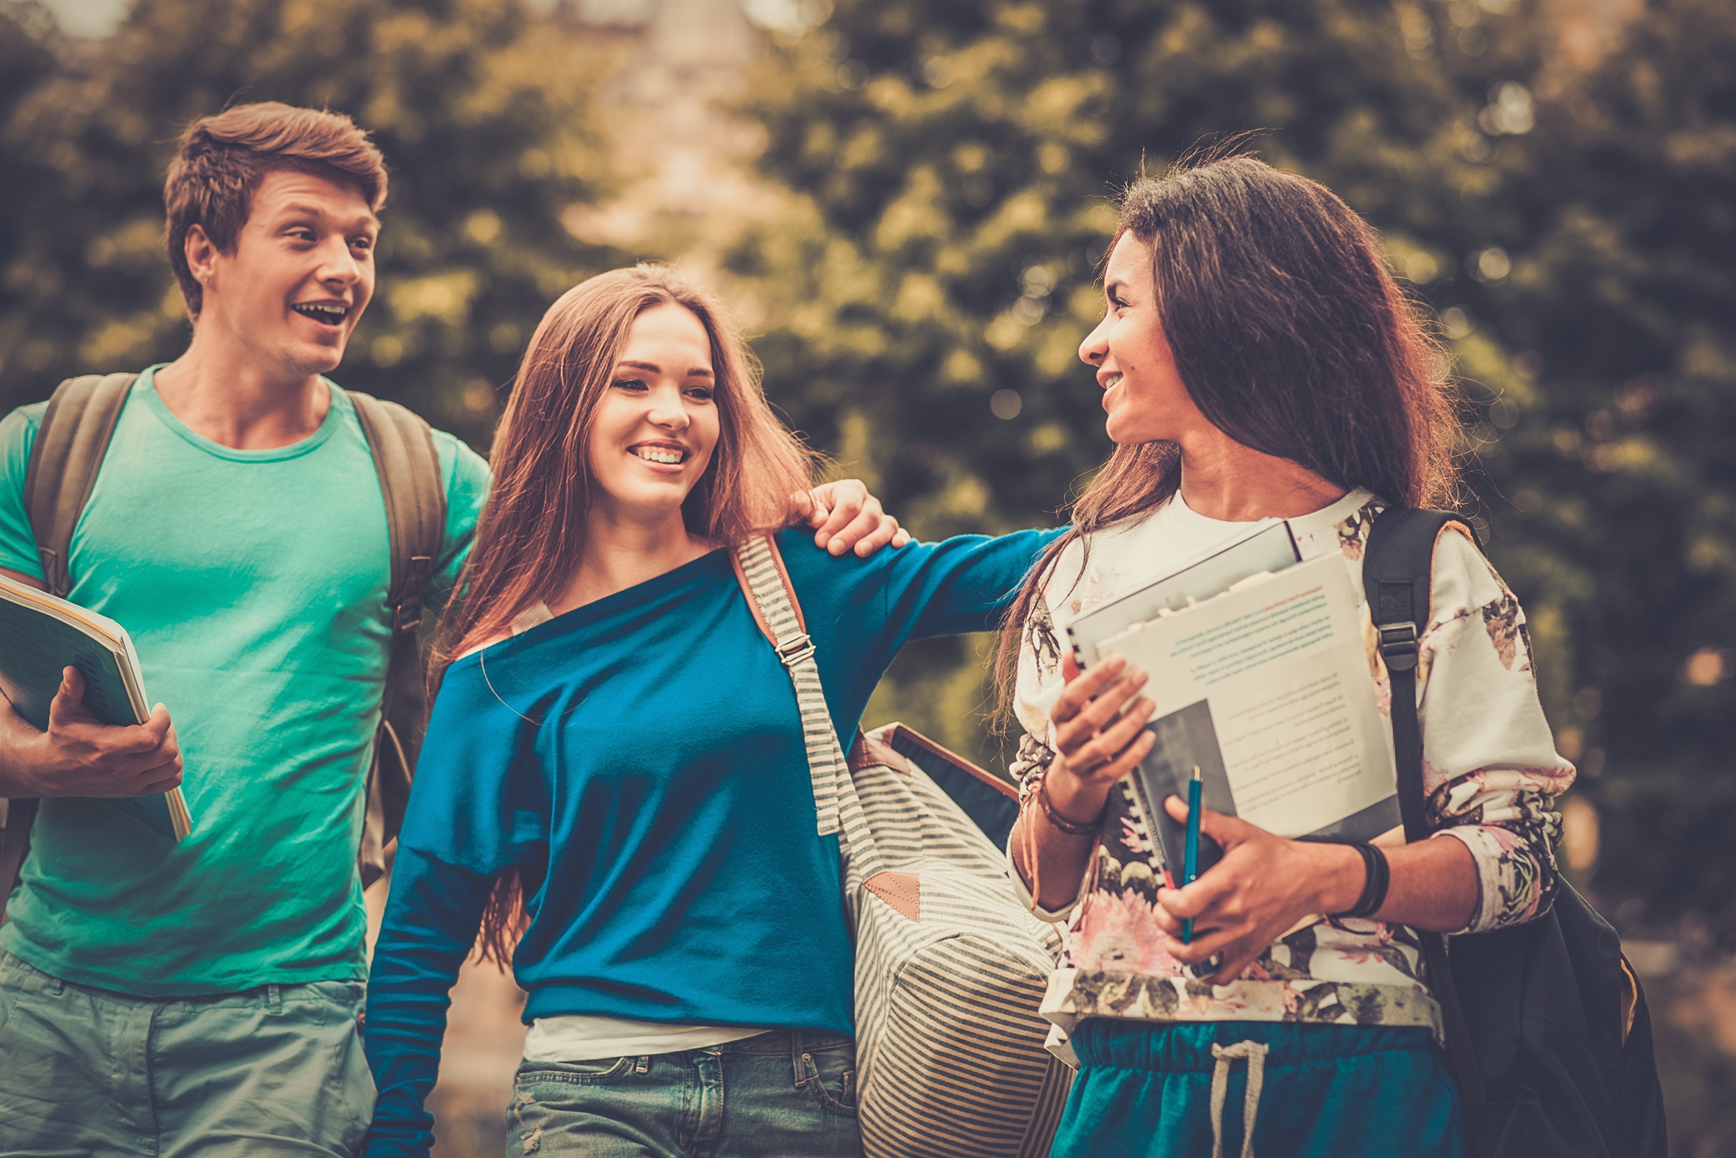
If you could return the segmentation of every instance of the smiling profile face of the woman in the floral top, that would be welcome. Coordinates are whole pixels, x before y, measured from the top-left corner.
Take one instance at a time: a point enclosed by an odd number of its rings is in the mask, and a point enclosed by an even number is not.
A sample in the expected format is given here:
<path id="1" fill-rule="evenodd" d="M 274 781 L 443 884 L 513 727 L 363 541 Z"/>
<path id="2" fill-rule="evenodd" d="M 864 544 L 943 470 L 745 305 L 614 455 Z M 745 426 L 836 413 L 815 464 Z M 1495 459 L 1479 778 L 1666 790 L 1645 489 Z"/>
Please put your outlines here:
<path id="1" fill-rule="evenodd" d="M 1121 444 L 1172 441 L 1210 425 L 1175 370 L 1158 319 L 1151 247 L 1123 233 L 1104 266 L 1104 316 L 1080 358 L 1097 368 L 1104 427 Z"/>

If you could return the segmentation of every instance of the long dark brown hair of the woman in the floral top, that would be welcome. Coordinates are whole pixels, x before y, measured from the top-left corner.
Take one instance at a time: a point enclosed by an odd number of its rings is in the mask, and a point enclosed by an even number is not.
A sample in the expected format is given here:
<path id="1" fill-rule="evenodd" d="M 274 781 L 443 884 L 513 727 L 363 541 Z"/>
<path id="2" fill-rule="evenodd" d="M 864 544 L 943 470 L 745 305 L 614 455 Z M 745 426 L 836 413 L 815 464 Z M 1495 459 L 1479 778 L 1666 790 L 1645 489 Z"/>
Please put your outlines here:
<path id="1" fill-rule="evenodd" d="M 1387 271 L 1373 227 L 1332 189 L 1229 156 L 1144 177 L 1120 210 L 1109 252 L 1128 234 L 1151 247 L 1163 335 L 1182 385 L 1217 429 L 1347 490 L 1411 507 L 1455 500 L 1446 359 Z M 1179 486 L 1174 443 L 1116 446 L 1073 503 L 1073 528 L 1031 568 L 1002 622 L 1002 726 L 1023 634 L 1047 632 L 1031 613 L 1055 559 Z"/>

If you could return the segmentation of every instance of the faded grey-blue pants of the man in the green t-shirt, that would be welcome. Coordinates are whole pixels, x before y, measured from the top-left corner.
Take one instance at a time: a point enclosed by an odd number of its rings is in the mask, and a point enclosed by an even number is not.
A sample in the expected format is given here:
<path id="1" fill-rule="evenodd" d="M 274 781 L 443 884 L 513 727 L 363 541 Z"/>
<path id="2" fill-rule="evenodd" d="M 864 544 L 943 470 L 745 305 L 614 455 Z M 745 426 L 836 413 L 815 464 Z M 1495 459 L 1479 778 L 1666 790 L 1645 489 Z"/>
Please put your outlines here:
<path id="1" fill-rule="evenodd" d="M 373 1116 L 361 983 L 151 1000 L 0 950 L 0 1155 L 349 1158 Z"/>

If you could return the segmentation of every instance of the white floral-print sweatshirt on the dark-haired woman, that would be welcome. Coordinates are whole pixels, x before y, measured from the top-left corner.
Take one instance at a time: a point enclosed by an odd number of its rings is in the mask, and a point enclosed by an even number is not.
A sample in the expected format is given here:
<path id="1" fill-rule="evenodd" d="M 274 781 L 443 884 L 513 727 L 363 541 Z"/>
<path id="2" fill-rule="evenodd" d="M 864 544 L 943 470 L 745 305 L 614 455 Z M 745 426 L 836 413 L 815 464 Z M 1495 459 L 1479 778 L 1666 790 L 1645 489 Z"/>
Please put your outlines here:
<path id="1" fill-rule="evenodd" d="M 1382 507 L 1366 491 L 1352 491 L 1292 519 L 1302 557 L 1342 552 L 1361 592 L 1363 543 Z M 1068 549 L 1026 623 L 1019 658 L 1017 714 L 1026 736 L 1014 771 L 1026 792 L 1052 757 L 1047 712 L 1061 686 L 1059 627 L 1252 526 L 1205 519 L 1177 497 L 1132 524 L 1099 533 L 1088 552 L 1078 542 Z M 1366 634 L 1375 696 L 1387 712 L 1385 665 L 1371 625 Z M 1434 556 L 1417 703 L 1427 823 L 1432 837 L 1462 840 L 1477 866 L 1477 905 L 1463 932 L 1536 918 L 1557 887 L 1561 816 L 1554 799 L 1575 771 L 1555 753 L 1538 703 L 1524 613 L 1495 568 L 1457 531 L 1443 535 Z M 1156 880 L 1146 863 L 1121 793 L 1113 792 L 1083 896 L 1069 911 L 1040 913 L 1068 920 L 1066 951 L 1043 1000 L 1043 1014 L 1062 1030 L 1071 1031 L 1082 1017 L 1132 1017 L 1415 1024 L 1439 1035 L 1415 931 L 1326 918 L 1288 932 L 1241 977 L 1213 986 L 1163 951 L 1153 920 Z M 1029 903 L 1017 873 L 1014 885 Z"/>

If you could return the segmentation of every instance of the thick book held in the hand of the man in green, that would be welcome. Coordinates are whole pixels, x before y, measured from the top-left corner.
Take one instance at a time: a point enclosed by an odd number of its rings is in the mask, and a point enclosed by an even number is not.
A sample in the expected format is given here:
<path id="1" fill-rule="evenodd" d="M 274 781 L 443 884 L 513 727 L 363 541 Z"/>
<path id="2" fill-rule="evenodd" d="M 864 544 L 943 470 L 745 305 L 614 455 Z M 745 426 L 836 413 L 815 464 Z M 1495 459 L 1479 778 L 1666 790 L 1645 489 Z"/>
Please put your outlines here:
<path id="1" fill-rule="evenodd" d="M 151 715 L 132 637 L 115 620 L 0 575 L 0 693 L 33 726 L 47 729 L 61 670 L 85 677 L 85 710 L 104 724 L 142 724 Z M 181 788 L 148 797 L 104 797 L 170 840 L 193 828 Z"/>

